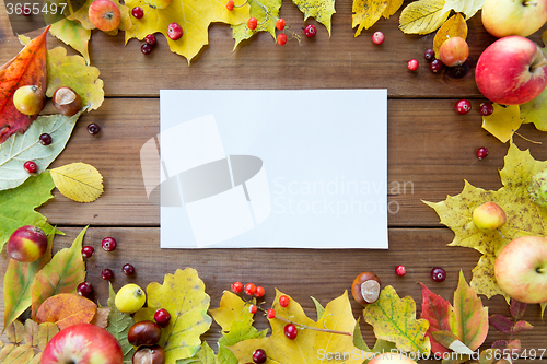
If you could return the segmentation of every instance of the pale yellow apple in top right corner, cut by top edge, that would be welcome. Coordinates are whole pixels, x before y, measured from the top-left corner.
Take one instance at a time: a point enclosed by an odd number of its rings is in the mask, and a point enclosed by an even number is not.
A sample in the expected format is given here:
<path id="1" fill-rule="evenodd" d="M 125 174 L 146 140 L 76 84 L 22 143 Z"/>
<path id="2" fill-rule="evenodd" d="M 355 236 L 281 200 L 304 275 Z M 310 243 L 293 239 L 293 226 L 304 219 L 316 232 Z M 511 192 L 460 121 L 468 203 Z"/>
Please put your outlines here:
<path id="1" fill-rule="evenodd" d="M 482 25 L 494 37 L 527 37 L 547 22 L 547 0 L 485 0 Z"/>

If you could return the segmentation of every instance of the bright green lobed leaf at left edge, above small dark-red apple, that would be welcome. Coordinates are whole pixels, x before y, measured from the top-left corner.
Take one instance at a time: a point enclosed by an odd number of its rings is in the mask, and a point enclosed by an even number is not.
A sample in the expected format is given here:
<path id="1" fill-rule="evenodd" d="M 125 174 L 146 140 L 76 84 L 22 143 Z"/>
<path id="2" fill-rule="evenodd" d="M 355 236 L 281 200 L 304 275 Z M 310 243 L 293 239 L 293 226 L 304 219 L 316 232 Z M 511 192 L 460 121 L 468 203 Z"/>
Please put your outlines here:
<path id="1" fill-rule="evenodd" d="M 34 225 L 47 235 L 51 234 L 54 227 L 35 209 L 54 198 L 54 188 L 51 176 L 44 172 L 32 176 L 18 188 L 0 191 L 0 251 L 11 234 L 21 226 Z"/>

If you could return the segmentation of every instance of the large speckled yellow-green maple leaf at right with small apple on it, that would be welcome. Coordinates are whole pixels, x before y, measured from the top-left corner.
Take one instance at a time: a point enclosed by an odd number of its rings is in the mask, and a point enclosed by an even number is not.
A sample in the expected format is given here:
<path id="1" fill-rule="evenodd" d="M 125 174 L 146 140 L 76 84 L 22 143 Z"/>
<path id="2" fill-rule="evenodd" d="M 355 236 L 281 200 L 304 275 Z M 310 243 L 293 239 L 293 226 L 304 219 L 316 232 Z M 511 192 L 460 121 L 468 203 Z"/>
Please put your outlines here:
<path id="1" fill-rule="evenodd" d="M 465 181 L 464 190 L 446 200 L 432 203 L 441 218 L 441 223 L 455 234 L 450 246 L 473 248 L 482 254 L 473 269 L 470 286 L 478 294 L 488 298 L 502 294 L 496 282 L 493 266 L 503 247 L 512 239 L 525 235 L 547 235 L 547 209 L 534 203 L 528 193 L 528 180 L 536 173 L 547 167 L 547 162 L 535 161 L 529 151 L 520 151 L 511 144 L 504 158 L 505 165 L 500 171 L 501 187 L 497 191 L 487 191 Z M 499 230 L 482 232 L 473 222 L 473 211 L 484 202 L 498 203 L 508 216 L 505 225 Z"/>

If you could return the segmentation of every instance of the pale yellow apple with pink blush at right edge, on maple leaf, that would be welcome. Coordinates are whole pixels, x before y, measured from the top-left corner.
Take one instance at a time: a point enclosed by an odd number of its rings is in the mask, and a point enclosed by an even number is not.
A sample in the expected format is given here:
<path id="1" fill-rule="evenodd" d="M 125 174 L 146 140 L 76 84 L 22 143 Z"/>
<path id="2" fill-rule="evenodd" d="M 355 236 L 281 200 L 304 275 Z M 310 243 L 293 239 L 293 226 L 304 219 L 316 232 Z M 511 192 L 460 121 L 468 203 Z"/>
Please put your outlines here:
<path id="1" fill-rule="evenodd" d="M 501 250 L 494 265 L 496 280 L 511 298 L 524 303 L 547 302 L 547 239 L 519 237 Z"/>

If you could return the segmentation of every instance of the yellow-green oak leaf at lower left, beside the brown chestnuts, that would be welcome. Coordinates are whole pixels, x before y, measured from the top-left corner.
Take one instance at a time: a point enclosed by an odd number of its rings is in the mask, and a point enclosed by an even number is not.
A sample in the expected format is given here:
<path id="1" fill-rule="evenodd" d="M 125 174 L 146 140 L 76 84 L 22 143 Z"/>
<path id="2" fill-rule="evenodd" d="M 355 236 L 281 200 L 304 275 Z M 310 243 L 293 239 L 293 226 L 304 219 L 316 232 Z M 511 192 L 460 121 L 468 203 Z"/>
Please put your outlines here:
<path id="1" fill-rule="evenodd" d="M 163 284 L 147 286 L 148 307 L 135 314 L 136 321 L 153 320 L 159 308 L 171 314 L 170 325 L 162 329 L 160 345 L 165 350 L 165 364 L 194 356 L 201 345 L 200 336 L 211 326 L 207 315 L 210 297 L 195 269 L 165 274 Z"/>

